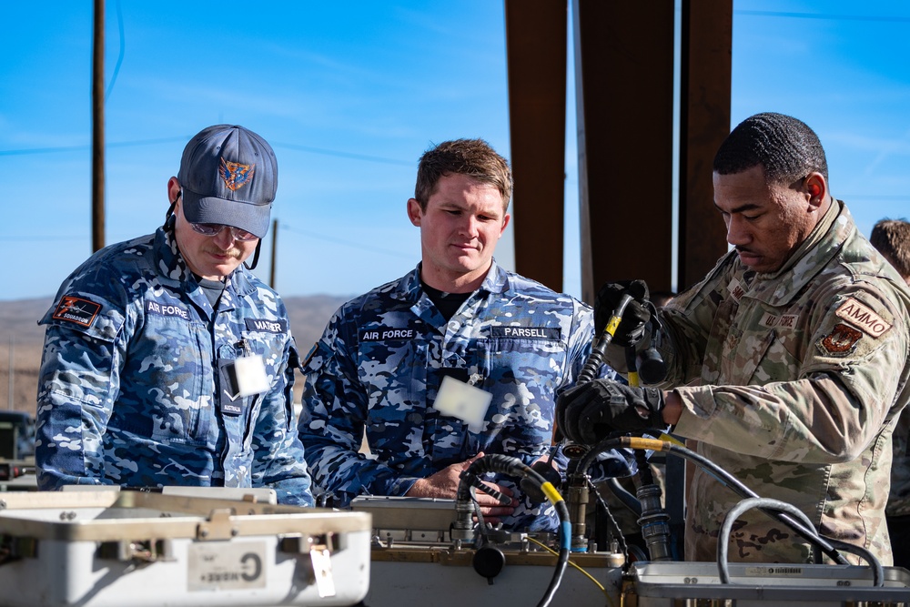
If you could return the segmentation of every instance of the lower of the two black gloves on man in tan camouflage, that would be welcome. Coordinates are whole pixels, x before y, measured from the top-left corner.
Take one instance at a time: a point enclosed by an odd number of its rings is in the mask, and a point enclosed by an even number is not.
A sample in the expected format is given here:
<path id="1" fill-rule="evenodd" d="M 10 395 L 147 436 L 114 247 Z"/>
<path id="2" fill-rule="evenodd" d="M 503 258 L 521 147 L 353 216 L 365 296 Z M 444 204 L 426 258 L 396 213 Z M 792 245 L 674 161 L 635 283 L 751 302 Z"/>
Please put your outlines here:
<path id="1" fill-rule="evenodd" d="M 573 442 L 594 445 L 613 430 L 663 428 L 663 392 L 594 379 L 556 400 L 556 425 Z"/>

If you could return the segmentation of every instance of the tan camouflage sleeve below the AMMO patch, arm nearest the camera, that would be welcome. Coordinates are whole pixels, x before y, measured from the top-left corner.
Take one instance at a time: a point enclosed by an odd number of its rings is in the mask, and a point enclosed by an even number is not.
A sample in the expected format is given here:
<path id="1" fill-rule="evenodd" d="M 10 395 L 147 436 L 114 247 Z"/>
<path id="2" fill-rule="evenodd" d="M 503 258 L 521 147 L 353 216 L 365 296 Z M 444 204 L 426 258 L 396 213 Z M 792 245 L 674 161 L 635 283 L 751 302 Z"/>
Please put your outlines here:
<path id="1" fill-rule="evenodd" d="M 694 415 L 683 412 L 676 431 L 772 460 L 824 463 L 861 453 L 894 415 L 907 357 L 906 316 L 863 282 L 832 285 L 817 300 L 826 303 L 813 312 L 814 330 L 804 350 L 779 351 L 773 362 L 760 363 L 761 379 L 677 389 Z M 873 313 L 888 329 L 875 335 L 877 329 L 861 320 L 844 318 L 851 305 Z M 788 373 L 794 379 L 785 379 Z M 778 374 L 781 380 L 775 380 Z"/>

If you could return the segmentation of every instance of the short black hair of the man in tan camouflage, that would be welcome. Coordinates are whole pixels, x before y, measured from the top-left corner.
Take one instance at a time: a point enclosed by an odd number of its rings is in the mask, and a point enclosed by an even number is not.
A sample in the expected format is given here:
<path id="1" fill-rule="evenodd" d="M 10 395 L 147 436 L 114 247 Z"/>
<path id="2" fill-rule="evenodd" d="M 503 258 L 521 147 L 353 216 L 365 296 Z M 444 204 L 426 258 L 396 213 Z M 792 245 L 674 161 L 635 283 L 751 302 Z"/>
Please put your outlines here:
<path id="1" fill-rule="evenodd" d="M 713 170 L 733 175 L 757 165 L 771 183 L 789 185 L 814 172 L 828 180 L 822 142 L 802 120 L 784 114 L 766 112 L 743 120 L 723 140 Z"/>

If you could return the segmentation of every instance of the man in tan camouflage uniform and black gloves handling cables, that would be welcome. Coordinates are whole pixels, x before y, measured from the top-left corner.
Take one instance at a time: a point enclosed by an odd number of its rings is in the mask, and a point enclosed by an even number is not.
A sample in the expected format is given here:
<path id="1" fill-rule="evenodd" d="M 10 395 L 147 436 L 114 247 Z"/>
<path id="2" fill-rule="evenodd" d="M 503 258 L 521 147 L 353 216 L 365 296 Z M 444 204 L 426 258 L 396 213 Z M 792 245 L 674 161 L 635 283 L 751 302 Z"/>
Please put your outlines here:
<path id="1" fill-rule="evenodd" d="M 564 395 L 560 426 L 590 441 L 674 424 L 759 496 L 792 504 L 845 542 L 844 559 L 858 562 L 866 549 L 890 565 L 885 501 L 892 431 L 910 399 L 910 290 L 831 197 L 824 149 L 803 122 L 747 118 L 714 157 L 713 182 L 733 250 L 660 312 L 667 379 L 659 389 L 591 382 Z M 607 309 L 627 288 L 640 298 L 645 290 L 641 281 L 601 289 Z M 634 340 L 647 319 L 636 301 L 620 329 Z M 650 343 L 645 335 L 638 347 Z M 608 360 L 622 371 L 617 354 Z M 717 558 L 719 530 L 740 500 L 695 470 L 687 561 Z M 809 541 L 761 511 L 744 512 L 724 540 L 731 561 L 812 560 Z"/>

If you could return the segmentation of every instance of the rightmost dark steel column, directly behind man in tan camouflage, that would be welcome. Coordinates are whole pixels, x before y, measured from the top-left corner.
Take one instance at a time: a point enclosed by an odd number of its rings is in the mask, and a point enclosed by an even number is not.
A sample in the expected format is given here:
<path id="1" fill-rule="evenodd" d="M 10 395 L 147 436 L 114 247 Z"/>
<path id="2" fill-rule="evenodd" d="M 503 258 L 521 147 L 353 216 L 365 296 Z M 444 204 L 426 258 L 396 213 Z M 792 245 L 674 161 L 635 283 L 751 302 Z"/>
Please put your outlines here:
<path id="1" fill-rule="evenodd" d="M 730 132 L 732 40 L 733 0 L 682 0 L 680 290 L 701 280 L 727 250 L 711 167 Z"/>

